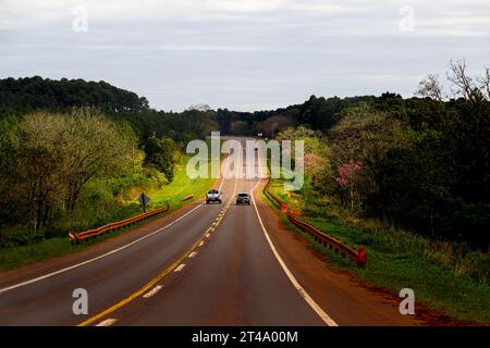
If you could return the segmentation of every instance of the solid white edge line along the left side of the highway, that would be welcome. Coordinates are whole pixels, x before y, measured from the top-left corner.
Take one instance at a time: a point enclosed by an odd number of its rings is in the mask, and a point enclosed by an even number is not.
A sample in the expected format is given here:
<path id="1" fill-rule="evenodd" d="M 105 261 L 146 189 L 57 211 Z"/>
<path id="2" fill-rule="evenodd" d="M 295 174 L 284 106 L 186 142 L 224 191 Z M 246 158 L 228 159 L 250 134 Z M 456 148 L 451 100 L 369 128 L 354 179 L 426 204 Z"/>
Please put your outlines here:
<path id="1" fill-rule="evenodd" d="M 221 181 L 221 185 L 220 185 L 219 189 L 222 188 L 223 184 L 224 184 L 224 178 Z M 86 265 L 86 264 L 88 264 L 88 263 L 91 263 L 91 262 L 95 262 L 95 261 L 97 261 L 97 260 L 107 258 L 108 256 L 111 256 L 111 254 L 113 254 L 113 253 L 115 253 L 115 252 L 119 252 L 119 251 L 122 251 L 122 250 L 124 250 L 124 249 L 127 249 L 128 247 L 131 247 L 131 246 L 133 246 L 133 245 L 135 245 L 135 244 L 137 244 L 137 243 L 139 243 L 139 241 L 142 241 L 142 240 L 144 240 L 144 239 L 146 239 L 146 238 L 149 238 L 149 237 L 156 235 L 157 233 L 162 232 L 163 229 L 167 229 L 168 227 L 172 226 L 173 224 L 177 223 L 177 222 L 181 221 L 182 219 L 184 219 L 184 217 L 186 217 L 187 215 L 189 215 L 191 213 L 193 213 L 193 212 L 194 212 L 195 210 L 197 210 L 198 208 L 203 207 L 203 204 L 204 204 L 204 202 L 200 203 L 199 206 L 195 207 L 193 210 L 186 212 L 184 215 L 180 216 L 179 219 L 172 221 L 172 222 L 169 223 L 168 225 L 164 225 L 163 227 L 158 228 L 157 231 L 154 231 L 152 233 L 150 233 L 150 234 L 148 234 L 148 235 L 146 235 L 146 236 L 143 236 L 142 238 L 138 238 L 138 239 L 136 239 L 136 240 L 133 240 L 132 243 L 128 243 L 128 244 L 126 244 L 125 246 L 122 246 L 122 247 L 120 247 L 120 248 L 118 248 L 118 249 L 114 249 L 114 250 L 111 250 L 111 251 L 109 251 L 109 252 L 106 252 L 106 253 L 103 253 L 103 254 L 101 254 L 101 256 L 98 256 L 98 257 L 96 257 L 96 258 L 89 259 L 89 260 L 87 260 L 87 261 L 84 261 L 84 262 L 81 262 L 81 263 L 77 263 L 77 264 L 74 264 L 74 265 L 71 265 L 71 266 L 68 266 L 68 268 L 64 268 L 64 269 L 61 269 L 61 270 L 51 272 L 51 273 L 48 273 L 48 274 L 45 274 L 45 275 L 41 275 L 41 276 L 38 276 L 38 277 L 36 277 L 36 278 L 33 278 L 33 279 L 29 279 L 29 281 L 26 281 L 26 282 L 22 282 L 22 283 L 19 283 L 19 284 L 9 286 L 9 287 L 4 287 L 4 288 L 0 289 L 0 295 L 3 294 L 3 293 L 7 293 L 7 291 L 13 290 L 13 289 L 15 289 L 15 288 L 19 288 L 19 287 L 22 287 L 22 286 L 25 286 L 25 285 L 29 285 L 29 284 L 33 284 L 33 283 L 37 283 L 37 282 L 44 281 L 44 279 L 46 279 L 46 278 L 52 277 L 52 276 L 54 276 L 54 275 L 58 275 L 58 274 L 61 274 L 61 273 L 65 273 L 65 272 L 68 272 L 68 271 L 71 271 L 71 270 L 81 268 L 81 266 Z"/>

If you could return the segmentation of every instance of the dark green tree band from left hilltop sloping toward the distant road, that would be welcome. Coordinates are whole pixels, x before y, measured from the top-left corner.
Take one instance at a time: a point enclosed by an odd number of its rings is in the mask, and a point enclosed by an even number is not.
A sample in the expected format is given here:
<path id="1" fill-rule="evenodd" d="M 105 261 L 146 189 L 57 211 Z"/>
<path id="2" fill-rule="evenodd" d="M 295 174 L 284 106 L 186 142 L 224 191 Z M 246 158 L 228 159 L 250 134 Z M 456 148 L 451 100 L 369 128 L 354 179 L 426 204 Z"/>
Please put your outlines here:
<path id="1" fill-rule="evenodd" d="M 73 108 L 97 109 L 114 121 L 127 121 L 144 146 L 151 136 L 179 142 L 204 138 L 217 128 L 215 112 L 196 108 L 182 113 L 156 111 L 145 97 L 106 82 L 54 80 L 39 76 L 0 79 L 0 119 L 36 110 L 70 112 Z"/>

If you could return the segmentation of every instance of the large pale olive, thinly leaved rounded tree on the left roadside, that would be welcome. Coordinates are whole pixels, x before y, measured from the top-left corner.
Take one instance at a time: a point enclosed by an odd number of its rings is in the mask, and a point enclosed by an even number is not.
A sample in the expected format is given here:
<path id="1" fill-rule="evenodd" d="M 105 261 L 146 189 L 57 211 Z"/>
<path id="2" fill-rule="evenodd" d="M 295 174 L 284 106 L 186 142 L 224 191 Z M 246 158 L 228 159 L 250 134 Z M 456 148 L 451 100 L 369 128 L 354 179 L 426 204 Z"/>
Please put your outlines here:
<path id="1" fill-rule="evenodd" d="M 135 138 L 123 135 L 102 114 L 77 109 L 70 114 L 35 112 L 20 124 L 16 174 L 35 228 L 51 209 L 73 210 L 84 185 L 130 165 Z"/>

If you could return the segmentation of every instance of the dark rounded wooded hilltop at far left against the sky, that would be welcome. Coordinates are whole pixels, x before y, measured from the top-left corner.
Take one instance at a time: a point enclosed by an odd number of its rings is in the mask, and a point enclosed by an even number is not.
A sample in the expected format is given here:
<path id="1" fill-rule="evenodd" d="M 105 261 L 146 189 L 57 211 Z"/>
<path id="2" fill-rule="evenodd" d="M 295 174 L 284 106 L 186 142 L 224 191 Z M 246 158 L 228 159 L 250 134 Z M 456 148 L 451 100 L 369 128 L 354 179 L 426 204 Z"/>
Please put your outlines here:
<path id="1" fill-rule="evenodd" d="M 35 109 L 66 110 L 73 107 L 96 107 L 106 112 L 140 111 L 148 109 L 148 100 L 103 80 L 56 80 L 39 76 L 0 79 L 2 116 Z"/>

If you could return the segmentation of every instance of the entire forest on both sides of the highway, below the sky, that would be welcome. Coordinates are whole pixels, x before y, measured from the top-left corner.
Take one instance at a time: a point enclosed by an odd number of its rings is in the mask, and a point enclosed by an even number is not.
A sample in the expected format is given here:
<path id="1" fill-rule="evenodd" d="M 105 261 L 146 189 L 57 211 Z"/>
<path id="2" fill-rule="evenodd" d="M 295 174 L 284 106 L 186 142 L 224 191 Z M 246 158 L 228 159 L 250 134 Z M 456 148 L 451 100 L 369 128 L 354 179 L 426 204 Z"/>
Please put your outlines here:
<path id="1" fill-rule="evenodd" d="M 272 111 L 164 112 L 105 82 L 1 79 L 0 245 L 65 234 L 85 223 L 76 216 L 86 207 L 110 206 L 117 217 L 131 187 L 172 181 L 186 141 L 220 129 L 304 139 L 306 206 L 327 201 L 488 251 L 489 80 L 488 69 L 469 76 L 456 61 L 444 82 L 429 74 L 412 98 L 311 96 Z M 19 225 L 22 236 L 12 237 Z"/>

